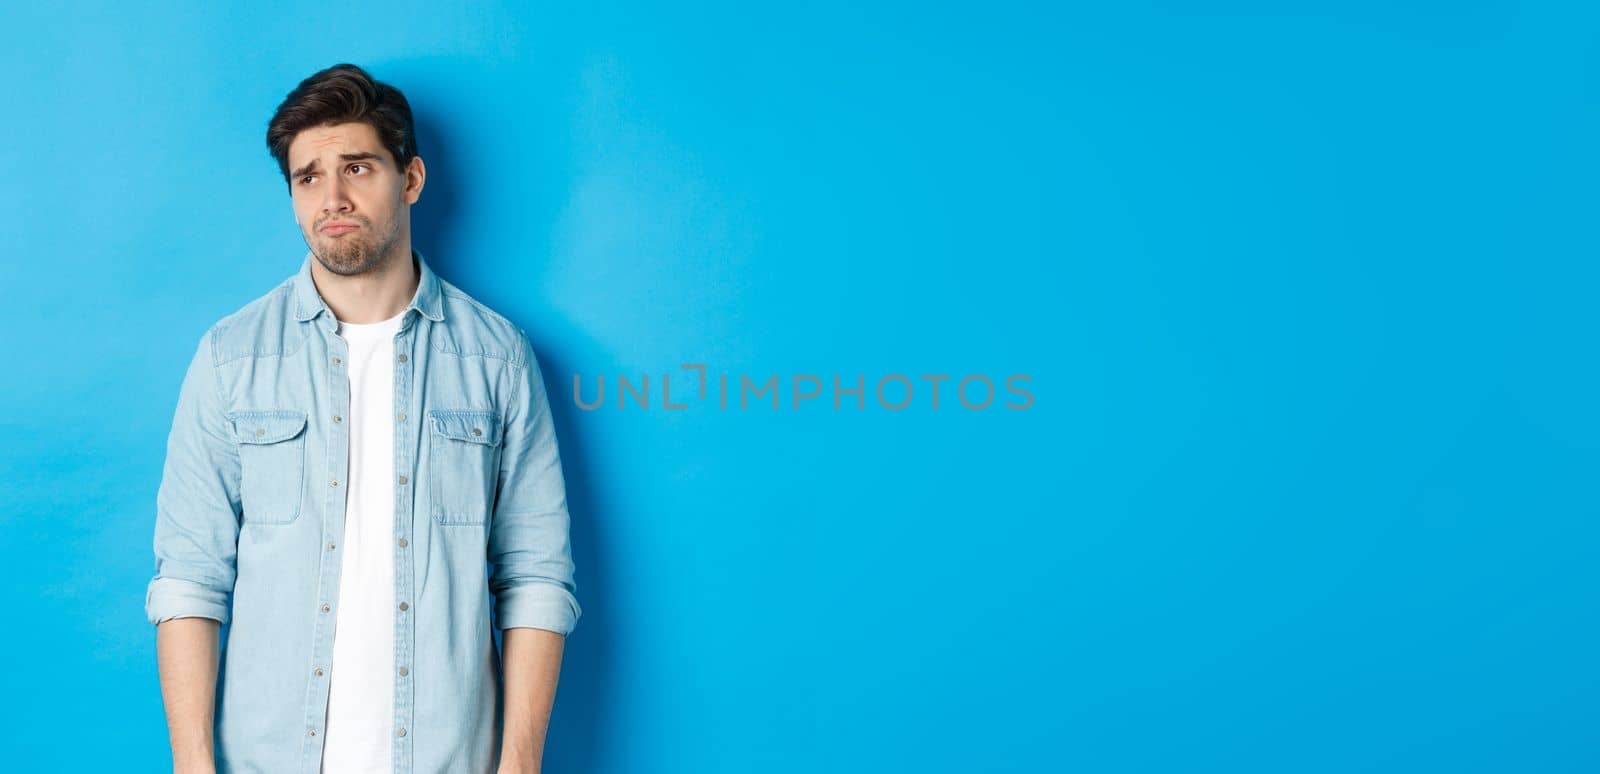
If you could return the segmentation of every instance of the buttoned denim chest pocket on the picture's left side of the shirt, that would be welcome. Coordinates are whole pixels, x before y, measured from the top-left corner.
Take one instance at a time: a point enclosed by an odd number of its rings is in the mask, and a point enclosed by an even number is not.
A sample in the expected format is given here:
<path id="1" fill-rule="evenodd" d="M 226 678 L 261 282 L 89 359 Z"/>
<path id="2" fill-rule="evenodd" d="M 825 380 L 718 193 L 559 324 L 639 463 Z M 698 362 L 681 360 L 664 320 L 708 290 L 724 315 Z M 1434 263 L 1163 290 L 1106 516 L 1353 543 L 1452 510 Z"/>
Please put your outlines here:
<path id="1" fill-rule="evenodd" d="M 243 521 L 288 525 L 299 517 L 306 485 L 306 413 L 235 411 Z"/>

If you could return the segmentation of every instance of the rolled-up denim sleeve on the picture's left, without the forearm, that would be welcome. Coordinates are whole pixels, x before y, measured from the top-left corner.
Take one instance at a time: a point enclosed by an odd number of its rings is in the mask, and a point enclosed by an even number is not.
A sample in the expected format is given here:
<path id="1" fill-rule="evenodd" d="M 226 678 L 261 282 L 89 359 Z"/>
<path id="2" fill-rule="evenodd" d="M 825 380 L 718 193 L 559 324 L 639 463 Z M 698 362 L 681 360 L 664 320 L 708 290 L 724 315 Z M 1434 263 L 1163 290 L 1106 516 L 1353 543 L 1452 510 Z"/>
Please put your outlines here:
<path id="1" fill-rule="evenodd" d="M 155 494 L 155 577 L 144 595 L 150 624 L 229 620 L 238 552 L 238 448 L 211 357 L 214 329 L 195 349 L 166 438 Z"/>

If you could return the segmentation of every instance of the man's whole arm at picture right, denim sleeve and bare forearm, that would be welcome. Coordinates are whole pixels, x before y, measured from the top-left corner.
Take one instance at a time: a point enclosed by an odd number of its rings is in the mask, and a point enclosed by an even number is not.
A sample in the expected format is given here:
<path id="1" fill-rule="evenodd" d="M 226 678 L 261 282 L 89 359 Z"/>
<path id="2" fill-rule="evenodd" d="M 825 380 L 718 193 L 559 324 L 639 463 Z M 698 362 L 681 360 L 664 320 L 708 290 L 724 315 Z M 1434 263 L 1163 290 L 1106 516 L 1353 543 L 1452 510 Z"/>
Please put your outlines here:
<path id="1" fill-rule="evenodd" d="M 566 486 L 544 377 L 525 333 L 506 408 L 499 483 L 490 523 L 494 625 L 501 649 L 501 771 L 536 772 L 555 702 L 566 635 L 582 614 L 574 596 Z"/>

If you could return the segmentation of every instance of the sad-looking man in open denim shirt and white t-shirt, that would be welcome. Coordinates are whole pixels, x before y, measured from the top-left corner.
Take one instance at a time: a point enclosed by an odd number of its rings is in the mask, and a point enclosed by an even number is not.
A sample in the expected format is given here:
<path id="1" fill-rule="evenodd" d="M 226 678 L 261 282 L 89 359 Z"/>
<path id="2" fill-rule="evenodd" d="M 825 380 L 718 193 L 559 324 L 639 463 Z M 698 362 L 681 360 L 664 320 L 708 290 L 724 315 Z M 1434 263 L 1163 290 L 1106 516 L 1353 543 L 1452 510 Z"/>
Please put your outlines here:
<path id="1" fill-rule="evenodd" d="M 146 595 L 174 768 L 538 771 L 581 609 L 528 337 L 411 248 L 400 91 L 322 70 L 267 146 L 310 251 L 179 390 Z"/>

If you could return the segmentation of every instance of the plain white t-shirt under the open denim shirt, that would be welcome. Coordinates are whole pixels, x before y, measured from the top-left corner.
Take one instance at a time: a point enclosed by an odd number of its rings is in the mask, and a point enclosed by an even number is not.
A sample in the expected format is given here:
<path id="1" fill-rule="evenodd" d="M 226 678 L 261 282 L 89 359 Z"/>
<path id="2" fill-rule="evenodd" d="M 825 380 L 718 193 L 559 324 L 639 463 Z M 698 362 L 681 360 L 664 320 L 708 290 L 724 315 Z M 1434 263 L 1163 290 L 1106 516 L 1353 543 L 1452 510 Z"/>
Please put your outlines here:
<path id="1" fill-rule="evenodd" d="M 349 344 L 350 470 L 323 774 L 392 771 L 395 684 L 395 342 L 405 312 L 339 321 Z"/>

